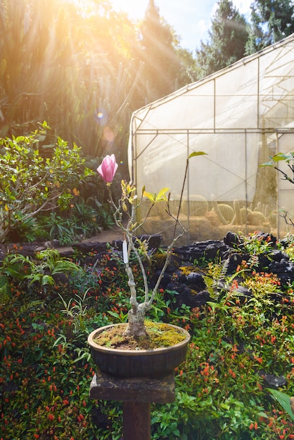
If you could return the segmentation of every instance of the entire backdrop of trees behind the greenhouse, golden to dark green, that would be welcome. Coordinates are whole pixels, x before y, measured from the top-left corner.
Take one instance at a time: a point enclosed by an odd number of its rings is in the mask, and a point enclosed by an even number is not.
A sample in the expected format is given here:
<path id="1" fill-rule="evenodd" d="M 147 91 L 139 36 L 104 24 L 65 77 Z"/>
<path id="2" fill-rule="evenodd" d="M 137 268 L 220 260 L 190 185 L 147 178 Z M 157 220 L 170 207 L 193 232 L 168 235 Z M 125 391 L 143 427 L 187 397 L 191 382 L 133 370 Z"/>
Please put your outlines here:
<path id="1" fill-rule="evenodd" d="M 126 161 L 133 110 L 294 32 L 290 0 L 255 0 L 250 23 L 219 0 L 194 55 L 146 4 L 134 22 L 111 0 L 0 0 L 0 137 L 46 120 L 85 155 Z"/>

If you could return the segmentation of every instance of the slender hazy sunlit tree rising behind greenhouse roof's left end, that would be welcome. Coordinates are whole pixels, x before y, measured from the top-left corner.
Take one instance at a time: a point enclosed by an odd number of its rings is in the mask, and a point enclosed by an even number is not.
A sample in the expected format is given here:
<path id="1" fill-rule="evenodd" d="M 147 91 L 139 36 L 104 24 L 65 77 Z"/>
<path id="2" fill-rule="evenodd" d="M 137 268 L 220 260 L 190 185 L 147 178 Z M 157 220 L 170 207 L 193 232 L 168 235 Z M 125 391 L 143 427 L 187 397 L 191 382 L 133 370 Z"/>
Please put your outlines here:
<path id="1" fill-rule="evenodd" d="M 160 18 L 159 8 L 149 0 L 141 22 L 141 58 L 145 65 L 148 101 L 154 101 L 175 89 L 180 60 L 174 48 L 170 25 Z"/>

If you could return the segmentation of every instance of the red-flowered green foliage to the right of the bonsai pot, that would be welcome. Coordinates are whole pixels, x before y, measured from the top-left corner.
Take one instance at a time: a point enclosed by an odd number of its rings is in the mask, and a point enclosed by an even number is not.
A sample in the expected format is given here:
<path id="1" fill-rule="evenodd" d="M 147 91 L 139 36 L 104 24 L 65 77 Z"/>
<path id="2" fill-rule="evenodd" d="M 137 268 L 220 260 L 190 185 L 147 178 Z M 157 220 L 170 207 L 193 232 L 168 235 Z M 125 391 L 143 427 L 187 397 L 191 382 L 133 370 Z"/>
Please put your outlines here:
<path id="1" fill-rule="evenodd" d="M 259 280 L 263 283 L 263 278 L 262 274 L 253 276 L 252 285 Z M 204 434 L 213 439 L 265 440 L 281 432 L 290 439 L 293 425 L 271 406 L 262 377 L 264 373 L 285 375 L 288 392 L 293 392 L 293 335 L 283 335 L 283 329 L 293 323 L 293 293 L 289 308 L 288 300 L 277 304 L 274 295 L 269 300 L 271 277 L 263 292 L 256 285 L 253 299 L 240 296 L 237 287 L 235 281 L 215 307 L 209 303 L 185 318 L 193 337 L 176 380 L 188 404 L 172 405 L 170 418 L 177 418 L 177 429 L 187 439 L 200 439 Z M 181 318 L 175 323 L 180 325 Z"/>

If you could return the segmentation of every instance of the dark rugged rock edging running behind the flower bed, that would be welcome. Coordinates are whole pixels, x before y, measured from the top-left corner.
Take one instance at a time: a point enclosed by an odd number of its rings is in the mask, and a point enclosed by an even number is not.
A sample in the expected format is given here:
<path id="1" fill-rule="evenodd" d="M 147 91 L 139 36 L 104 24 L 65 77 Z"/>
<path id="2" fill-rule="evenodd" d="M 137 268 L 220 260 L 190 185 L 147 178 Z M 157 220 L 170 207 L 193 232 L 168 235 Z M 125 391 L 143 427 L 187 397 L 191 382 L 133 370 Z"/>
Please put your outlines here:
<path id="1" fill-rule="evenodd" d="M 257 254 L 255 270 L 260 272 L 274 273 L 281 279 L 281 284 L 293 283 L 294 281 L 294 264 L 286 254 L 278 250 L 276 246 L 276 238 L 267 233 L 256 233 L 253 238 L 264 240 L 264 242 L 272 242 L 273 247 L 266 247 L 266 252 Z M 140 240 L 148 240 L 149 248 L 157 250 L 162 240 L 161 235 L 141 235 Z M 7 253 L 21 253 L 25 256 L 34 256 L 36 250 L 48 249 L 48 247 L 56 247 L 57 241 L 53 242 L 31 242 L 18 245 L 1 245 L 0 261 L 5 258 Z M 220 260 L 224 264 L 222 276 L 217 280 L 216 290 L 230 290 L 231 285 L 224 283 L 225 276 L 236 273 L 236 268 L 242 264 L 242 261 L 249 261 L 252 256 L 242 252 L 243 242 L 235 233 L 227 233 L 224 240 L 206 240 L 202 242 L 193 242 L 191 245 L 184 245 L 174 249 L 172 259 L 167 267 L 167 271 L 160 282 L 160 288 L 164 290 L 174 290 L 178 293 L 177 306 L 186 304 L 191 307 L 199 307 L 212 301 L 206 290 L 204 281 L 205 272 L 198 270 L 195 261 L 200 259 L 215 261 Z M 109 246 L 115 253 L 110 258 Z M 286 246 L 286 242 L 285 242 Z M 238 247 L 238 250 L 236 249 Z M 79 264 L 91 267 L 117 267 L 117 259 L 122 259 L 122 240 L 115 240 L 111 244 L 106 242 L 81 242 L 75 243 L 72 247 L 58 248 L 61 257 L 72 257 L 72 252 L 80 253 Z M 160 275 L 160 271 L 164 264 L 164 257 L 157 254 L 154 256 L 151 265 L 151 272 L 154 273 L 153 279 L 150 281 L 150 287 L 153 288 Z M 148 263 L 144 263 L 144 265 Z M 191 266 L 190 268 L 186 266 Z M 185 270 L 186 267 L 186 270 Z M 242 275 L 241 275 L 242 276 Z M 240 294 L 241 303 L 246 297 L 250 297 L 251 293 L 245 287 L 241 287 L 242 278 L 235 278 L 238 282 L 237 292 Z M 67 278 L 63 274 L 58 274 L 56 281 L 66 283 Z M 167 294 L 168 295 L 168 294 Z M 276 293 L 269 294 L 271 299 L 278 304 L 285 295 L 281 296 Z"/>

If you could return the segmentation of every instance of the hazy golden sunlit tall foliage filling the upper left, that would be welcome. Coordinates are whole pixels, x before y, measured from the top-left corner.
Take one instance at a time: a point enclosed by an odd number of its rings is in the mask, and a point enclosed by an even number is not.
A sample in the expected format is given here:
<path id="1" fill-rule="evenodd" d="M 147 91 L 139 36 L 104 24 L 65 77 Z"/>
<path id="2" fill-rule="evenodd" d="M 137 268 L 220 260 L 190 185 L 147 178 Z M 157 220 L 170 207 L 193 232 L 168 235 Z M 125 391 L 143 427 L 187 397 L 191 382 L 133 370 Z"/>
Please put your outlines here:
<path id="1" fill-rule="evenodd" d="M 1 1 L 0 136 L 29 132 L 46 119 L 91 157 L 115 141 L 126 162 L 128 107 L 142 68 L 134 56 L 136 30 L 106 1 L 89 9 L 81 13 L 76 2 L 57 0 Z"/>

